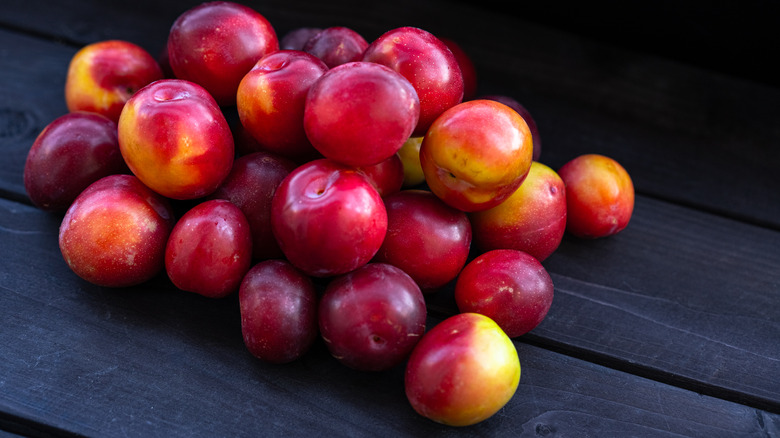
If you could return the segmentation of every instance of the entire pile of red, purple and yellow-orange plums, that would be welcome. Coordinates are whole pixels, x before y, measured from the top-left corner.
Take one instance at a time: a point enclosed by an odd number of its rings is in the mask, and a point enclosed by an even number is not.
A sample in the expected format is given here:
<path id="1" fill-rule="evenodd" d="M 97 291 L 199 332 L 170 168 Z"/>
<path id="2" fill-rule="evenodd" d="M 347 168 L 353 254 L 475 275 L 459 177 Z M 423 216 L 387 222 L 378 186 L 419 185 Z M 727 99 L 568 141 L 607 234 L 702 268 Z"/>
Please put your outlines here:
<path id="1" fill-rule="evenodd" d="M 321 337 L 354 369 L 405 363 L 412 407 L 444 424 L 512 398 L 511 338 L 548 313 L 541 262 L 565 230 L 609 236 L 633 209 L 617 162 L 541 164 L 530 113 L 476 97 L 465 52 L 416 27 L 278 39 L 247 6 L 203 3 L 160 58 L 127 41 L 83 47 L 65 99 L 24 183 L 64 213 L 73 272 L 237 293 L 257 358 L 287 363 Z M 426 295 L 447 285 L 459 313 L 426 331 Z"/>

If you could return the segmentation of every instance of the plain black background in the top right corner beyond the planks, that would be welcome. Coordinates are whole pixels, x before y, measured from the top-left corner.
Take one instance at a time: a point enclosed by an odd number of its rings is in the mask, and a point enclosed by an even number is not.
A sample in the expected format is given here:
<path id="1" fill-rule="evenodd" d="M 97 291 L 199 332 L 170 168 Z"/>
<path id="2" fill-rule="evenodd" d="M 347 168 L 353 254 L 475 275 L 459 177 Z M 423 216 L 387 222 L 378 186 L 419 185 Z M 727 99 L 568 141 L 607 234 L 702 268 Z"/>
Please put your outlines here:
<path id="1" fill-rule="evenodd" d="M 618 47 L 780 85 L 778 1 L 461 1 Z"/>

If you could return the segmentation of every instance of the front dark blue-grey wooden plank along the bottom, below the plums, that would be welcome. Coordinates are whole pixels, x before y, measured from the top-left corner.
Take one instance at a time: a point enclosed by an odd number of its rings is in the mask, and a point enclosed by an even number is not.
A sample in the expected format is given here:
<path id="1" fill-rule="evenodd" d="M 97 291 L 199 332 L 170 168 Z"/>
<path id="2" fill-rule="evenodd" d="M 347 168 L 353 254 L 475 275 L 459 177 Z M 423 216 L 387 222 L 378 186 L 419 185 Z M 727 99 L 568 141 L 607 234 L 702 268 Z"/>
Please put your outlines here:
<path id="1" fill-rule="evenodd" d="M 0 200 L 0 428 L 44 436 L 762 437 L 780 416 L 516 340 L 515 397 L 473 427 L 414 413 L 403 367 L 354 372 L 323 344 L 271 366 L 244 348 L 235 296 L 165 279 L 110 290 L 72 274 L 59 217 Z M 559 306 L 560 307 L 560 306 Z M 438 321 L 431 318 L 430 324 Z M 23 428 L 23 429 L 22 429 Z"/>

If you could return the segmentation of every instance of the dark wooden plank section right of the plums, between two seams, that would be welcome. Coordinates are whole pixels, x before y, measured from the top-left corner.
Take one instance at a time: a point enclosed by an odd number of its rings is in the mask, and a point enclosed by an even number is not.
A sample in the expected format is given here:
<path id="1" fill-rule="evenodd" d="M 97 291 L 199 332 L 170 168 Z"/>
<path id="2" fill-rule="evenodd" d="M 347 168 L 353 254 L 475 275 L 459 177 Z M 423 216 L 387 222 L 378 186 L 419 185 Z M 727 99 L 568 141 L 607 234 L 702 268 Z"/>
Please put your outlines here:
<path id="1" fill-rule="evenodd" d="M 547 318 L 524 336 L 568 354 L 780 411 L 780 234 L 646 197 L 601 240 L 544 262 Z M 452 285 L 430 307 L 452 314 Z"/>

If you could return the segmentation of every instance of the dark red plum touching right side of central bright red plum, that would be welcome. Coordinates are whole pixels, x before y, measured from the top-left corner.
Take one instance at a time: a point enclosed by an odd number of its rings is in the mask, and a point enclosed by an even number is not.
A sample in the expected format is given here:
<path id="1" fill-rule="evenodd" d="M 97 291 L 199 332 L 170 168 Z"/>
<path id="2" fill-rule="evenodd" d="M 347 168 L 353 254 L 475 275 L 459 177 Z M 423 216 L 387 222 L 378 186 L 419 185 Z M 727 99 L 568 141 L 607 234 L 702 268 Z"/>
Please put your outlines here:
<path id="1" fill-rule="evenodd" d="M 387 235 L 375 262 L 400 268 L 424 293 L 436 291 L 457 277 L 471 247 L 466 213 L 418 189 L 386 197 L 385 208 Z"/>

